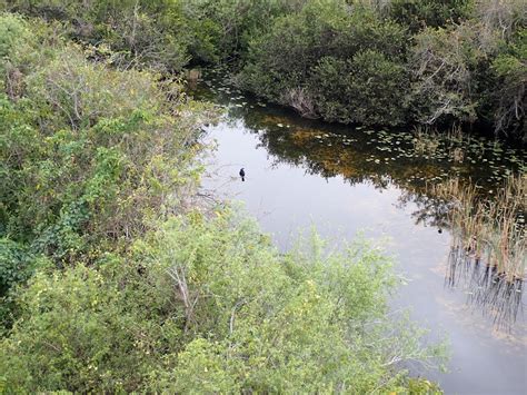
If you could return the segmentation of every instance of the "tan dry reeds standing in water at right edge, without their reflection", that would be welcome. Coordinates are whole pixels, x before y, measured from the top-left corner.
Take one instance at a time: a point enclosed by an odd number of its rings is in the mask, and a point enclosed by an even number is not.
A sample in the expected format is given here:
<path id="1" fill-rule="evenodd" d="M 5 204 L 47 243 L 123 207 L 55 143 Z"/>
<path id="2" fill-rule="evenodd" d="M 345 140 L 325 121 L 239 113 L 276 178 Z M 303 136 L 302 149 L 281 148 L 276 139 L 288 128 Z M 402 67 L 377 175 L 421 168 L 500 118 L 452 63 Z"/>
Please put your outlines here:
<path id="1" fill-rule="evenodd" d="M 507 280 L 526 278 L 526 175 L 509 176 L 491 200 L 481 198 L 476 186 L 463 185 L 459 179 L 430 189 L 449 203 L 453 248 L 460 247 L 468 258 L 496 268 Z"/>

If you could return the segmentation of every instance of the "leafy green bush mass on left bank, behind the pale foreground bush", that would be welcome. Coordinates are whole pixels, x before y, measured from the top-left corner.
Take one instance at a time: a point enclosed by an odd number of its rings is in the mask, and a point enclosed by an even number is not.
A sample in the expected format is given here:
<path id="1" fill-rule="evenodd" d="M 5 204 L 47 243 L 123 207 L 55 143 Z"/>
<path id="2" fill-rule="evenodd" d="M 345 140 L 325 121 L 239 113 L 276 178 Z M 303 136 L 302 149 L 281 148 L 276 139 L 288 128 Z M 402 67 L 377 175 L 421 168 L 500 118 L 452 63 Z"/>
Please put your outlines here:
<path id="1" fill-rule="evenodd" d="M 211 111 L 151 72 L 46 48 L 20 73 L 19 97 L 0 96 L 0 231 L 63 265 L 179 207 L 199 177 L 195 142 Z"/>

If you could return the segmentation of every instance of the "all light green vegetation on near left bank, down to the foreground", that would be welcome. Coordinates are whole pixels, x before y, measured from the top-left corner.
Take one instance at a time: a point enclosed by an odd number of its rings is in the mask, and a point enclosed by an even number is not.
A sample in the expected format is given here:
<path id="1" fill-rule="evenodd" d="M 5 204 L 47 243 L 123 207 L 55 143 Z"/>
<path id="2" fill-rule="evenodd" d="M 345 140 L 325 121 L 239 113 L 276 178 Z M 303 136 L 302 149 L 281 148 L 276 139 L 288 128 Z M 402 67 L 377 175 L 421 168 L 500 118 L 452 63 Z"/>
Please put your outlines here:
<path id="1" fill-rule="evenodd" d="M 199 200 L 218 115 L 149 53 L 0 14 L 0 392 L 439 393 L 379 248 L 279 254 Z"/>

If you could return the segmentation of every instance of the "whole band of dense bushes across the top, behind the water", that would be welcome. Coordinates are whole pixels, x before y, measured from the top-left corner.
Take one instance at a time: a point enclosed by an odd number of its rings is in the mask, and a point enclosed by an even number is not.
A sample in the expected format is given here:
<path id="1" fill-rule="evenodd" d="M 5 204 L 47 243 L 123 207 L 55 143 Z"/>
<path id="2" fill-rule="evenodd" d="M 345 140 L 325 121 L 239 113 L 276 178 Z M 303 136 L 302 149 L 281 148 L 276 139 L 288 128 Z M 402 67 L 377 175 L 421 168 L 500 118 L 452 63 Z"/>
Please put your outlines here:
<path id="1" fill-rule="evenodd" d="M 118 65 L 227 61 L 240 87 L 306 117 L 527 138 L 521 0 L 3 1 Z"/>

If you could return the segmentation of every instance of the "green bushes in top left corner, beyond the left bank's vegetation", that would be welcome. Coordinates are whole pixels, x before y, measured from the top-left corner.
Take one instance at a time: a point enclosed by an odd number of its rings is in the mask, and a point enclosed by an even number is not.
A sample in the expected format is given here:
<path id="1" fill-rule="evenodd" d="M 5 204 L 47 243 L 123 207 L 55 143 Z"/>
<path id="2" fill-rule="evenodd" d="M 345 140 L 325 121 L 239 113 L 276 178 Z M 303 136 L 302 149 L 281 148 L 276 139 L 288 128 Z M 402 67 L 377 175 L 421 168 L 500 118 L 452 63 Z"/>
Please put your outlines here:
<path id="1" fill-rule="evenodd" d="M 109 46 L 119 63 L 180 71 L 189 61 L 179 1 L 9 1 L 8 10 L 60 21 L 76 41 Z"/>

